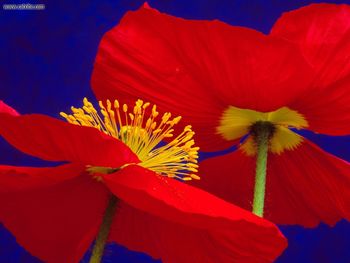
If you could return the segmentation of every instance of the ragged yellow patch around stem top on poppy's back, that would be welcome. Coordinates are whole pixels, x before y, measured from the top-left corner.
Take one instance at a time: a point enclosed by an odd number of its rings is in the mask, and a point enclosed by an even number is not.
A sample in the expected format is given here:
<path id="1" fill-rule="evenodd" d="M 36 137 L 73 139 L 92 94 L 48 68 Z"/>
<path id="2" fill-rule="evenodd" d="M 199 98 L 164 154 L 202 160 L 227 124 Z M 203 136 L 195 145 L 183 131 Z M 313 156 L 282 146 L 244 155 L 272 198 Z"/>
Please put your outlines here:
<path id="1" fill-rule="evenodd" d="M 249 156 L 257 153 L 256 139 L 262 131 L 269 134 L 269 151 L 281 154 L 294 150 L 303 137 L 291 130 L 308 127 L 305 117 L 299 112 L 282 107 L 275 111 L 259 112 L 229 106 L 222 114 L 217 133 L 226 140 L 237 140 L 248 134 L 240 148 Z"/>

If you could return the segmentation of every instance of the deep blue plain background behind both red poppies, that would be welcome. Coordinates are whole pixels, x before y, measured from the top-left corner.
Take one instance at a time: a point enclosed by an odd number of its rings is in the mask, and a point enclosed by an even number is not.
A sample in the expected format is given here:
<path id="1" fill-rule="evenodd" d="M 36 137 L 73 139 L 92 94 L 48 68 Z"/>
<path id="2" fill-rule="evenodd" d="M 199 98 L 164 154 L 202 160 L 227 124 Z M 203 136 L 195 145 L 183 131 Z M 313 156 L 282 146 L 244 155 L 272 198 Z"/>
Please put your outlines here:
<path id="1" fill-rule="evenodd" d="M 58 116 L 84 96 L 92 98 L 90 75 L 102 35 L 115 26 L 127 10 L 143 1 L 94 0 L 44 2 L 44 11 L 0 10 L 0 99 L 21 113 Z M 159 0 L 151 6 L 184 18 L 220 19 L 232 25 L 268 33 L 284 11 L 315 1 L 296 0 Z M 348 3 L 349 1 L 326 1 Z M 6 1 L 13 3 L 13 1 Z M 19 2 L 27 3 L 27 2 Z M 35 2 L 29 2 L 34 4 Z M 341 114 L 341 113 L 340 113 Z M 350 140 L 303 133 L 323 149 L 350 160 Z M 44 165 L 12 149 L 0 140 L 0 163 Z M 207 156 L 207 155 L 205 155 Z M 45 164 L 47 165 L 47 164 Z M 278 262 L 350 262 L 350 223 L 341 221 L 331 228 L 281 226 L 289 247 Z M 88 262 L 88 253 L 83 262 Z M 105 262 L 158 262 L 147 255 L 112 244 Z M 0 263 L 40 262 L 21 248 L 0 224 Z"/>

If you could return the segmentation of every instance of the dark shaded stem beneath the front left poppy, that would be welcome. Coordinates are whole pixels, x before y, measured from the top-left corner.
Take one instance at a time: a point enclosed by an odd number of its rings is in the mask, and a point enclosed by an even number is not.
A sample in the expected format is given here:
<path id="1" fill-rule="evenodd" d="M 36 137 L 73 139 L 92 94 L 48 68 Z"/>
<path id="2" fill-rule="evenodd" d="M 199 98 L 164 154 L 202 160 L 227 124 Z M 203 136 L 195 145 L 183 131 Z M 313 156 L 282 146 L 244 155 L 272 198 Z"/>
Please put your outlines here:
<path id="1" fill-rule="evenodd" d="M 113 217 L 116 211 L 117 202 L 118 202 L 118 199 L 114 195 L 112 195 L 109 199 L 108 206 L 103 216 L 102 224 L 97 234 L 95 245 L 92 249 L 92 254 L 91 254 L 89 263 L 101 262 L 103 251 L 104 251 L 108 234 L 113 222 Z"/>

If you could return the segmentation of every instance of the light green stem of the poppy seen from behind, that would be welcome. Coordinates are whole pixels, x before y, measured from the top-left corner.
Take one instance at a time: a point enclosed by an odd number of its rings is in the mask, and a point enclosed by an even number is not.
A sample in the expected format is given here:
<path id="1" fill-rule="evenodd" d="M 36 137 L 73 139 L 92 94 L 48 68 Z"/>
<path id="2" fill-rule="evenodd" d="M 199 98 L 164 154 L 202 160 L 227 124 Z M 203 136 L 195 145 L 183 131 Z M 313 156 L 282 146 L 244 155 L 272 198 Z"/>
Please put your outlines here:
<path id="1" fill-rule="evenodd" d="M 260 217 L 264 215 L 266 167 L 270 133 L 271 130 L 268 126 L 261 125 L 257 129 L 255 136 L 258 152 L 256 158 L 253 213 Z"/>

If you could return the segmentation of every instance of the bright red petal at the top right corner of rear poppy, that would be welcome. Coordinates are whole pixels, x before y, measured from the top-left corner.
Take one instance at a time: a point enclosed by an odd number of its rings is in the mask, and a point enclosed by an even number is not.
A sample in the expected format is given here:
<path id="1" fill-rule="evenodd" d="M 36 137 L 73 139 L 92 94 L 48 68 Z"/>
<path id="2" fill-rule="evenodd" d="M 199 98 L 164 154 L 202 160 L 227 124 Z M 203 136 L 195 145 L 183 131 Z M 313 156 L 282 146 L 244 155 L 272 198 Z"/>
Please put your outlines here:
<path id="1" fill-rule="evenodd" d="M 272 35 L 298 44 L 317 73 L 313 88 L 290 107 L 303 113 L 310 129 L 350 133 L 350 6 L 313 4 L 284 14 Z"/>

